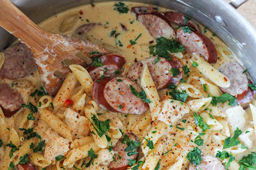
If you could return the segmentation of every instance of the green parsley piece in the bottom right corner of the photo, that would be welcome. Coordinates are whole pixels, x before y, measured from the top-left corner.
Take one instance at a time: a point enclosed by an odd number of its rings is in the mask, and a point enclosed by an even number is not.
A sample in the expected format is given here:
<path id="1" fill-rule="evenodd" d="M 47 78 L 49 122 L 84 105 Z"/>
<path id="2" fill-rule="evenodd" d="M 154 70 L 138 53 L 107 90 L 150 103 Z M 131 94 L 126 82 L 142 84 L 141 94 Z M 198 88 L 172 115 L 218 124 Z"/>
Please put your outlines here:
<path id="1" fill-rule="evenodd" d="M 256 169 L 256 152 L 251 152 L 251 154 L 244 156 L 238 163 L 240 163 L 239 170 L 246 170 L 246 168 L 250 170 Z"/>

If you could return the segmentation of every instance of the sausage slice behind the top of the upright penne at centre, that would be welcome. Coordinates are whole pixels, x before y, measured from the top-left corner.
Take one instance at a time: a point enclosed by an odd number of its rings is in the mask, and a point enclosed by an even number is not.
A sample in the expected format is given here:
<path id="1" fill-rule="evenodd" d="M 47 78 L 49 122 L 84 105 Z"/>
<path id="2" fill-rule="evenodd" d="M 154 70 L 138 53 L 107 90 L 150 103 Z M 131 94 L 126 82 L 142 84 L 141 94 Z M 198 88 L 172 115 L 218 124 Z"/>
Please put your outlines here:
<path id="1" fill-rule="evenodd" d="M 176 58 L 171 60 L 165 60 L 165 58 L 159 57 L 159 61 L 155 63 L 156 56 L 151 56 L 145 58 L 130 67 L 127 78 L 132 81 L 136 81 L 140 84 L 140 76 L 143 69 L 143 65 L 147 64 L 149 67 L 149 72 L 151 73 L 152 79 L 155 83 L 157 89 L 163 89 L 170 83 L 178 84 L 183 77 L 183 71 L 179 72 L 175 77 L 172 76 L 171 69 L 180 69 L 182 64 Z M 155 64 L 154 64 L 155 63 Z"/>

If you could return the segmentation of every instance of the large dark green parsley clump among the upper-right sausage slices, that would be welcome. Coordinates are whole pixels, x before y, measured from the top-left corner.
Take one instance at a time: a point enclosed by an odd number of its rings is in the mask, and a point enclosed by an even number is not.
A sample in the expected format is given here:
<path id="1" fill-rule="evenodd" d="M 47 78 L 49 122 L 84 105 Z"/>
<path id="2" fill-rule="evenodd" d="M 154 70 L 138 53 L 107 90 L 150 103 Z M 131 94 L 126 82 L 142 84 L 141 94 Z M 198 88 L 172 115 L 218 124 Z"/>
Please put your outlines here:
<path id="1" fill-rule="evenodd" d="M 166 59 L 171 59 L 170 52 L 178 53 L 183 52 L 183 50 L 185 50 L 185 47 L 180 45 L 178 41 L 164 37 L 157 38 L 157 44 L 155 46 L 149 46 L 150 54 L 162 56 Z"/>

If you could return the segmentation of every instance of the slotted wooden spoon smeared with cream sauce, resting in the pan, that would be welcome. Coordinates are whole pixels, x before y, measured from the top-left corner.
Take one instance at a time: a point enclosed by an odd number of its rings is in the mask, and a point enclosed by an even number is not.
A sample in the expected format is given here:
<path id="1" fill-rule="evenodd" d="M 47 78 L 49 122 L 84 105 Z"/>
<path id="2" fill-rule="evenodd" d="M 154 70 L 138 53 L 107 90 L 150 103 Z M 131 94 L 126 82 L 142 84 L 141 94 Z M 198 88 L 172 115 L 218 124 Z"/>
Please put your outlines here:
<path id="1" fill-rule="evenodd" d="M 67 35 L 58 35 L 41 29 L 9 0 L 0 0 L 0 25 L 33 53 L 41 80 L 49 94 L 57 94 L 62 80 L 54 73 L 66 75 L 70 70 L 63 61 L 85 64 L 76 54 L 89 56 L 90 52 L 108 53 L 103 47 Z"/>

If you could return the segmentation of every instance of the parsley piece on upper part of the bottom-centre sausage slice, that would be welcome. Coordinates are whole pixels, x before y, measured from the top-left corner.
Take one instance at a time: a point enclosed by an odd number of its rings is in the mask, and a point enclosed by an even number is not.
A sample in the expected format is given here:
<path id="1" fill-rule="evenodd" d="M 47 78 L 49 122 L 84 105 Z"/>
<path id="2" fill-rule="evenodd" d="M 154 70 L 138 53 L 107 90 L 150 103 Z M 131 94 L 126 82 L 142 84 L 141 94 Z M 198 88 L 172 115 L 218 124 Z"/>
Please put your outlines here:
<path id="1" fill-rule="evenodd" d="M 124 151 L 127 152 L 128 156 L 138 154 L 137 149 L 140 147 L 140 141 L 130 140 L 127 135 L 124 135 L 124 137 L 121 138 L 121 143 L 127 144 L 127 147 L 124 149 Z"/>

